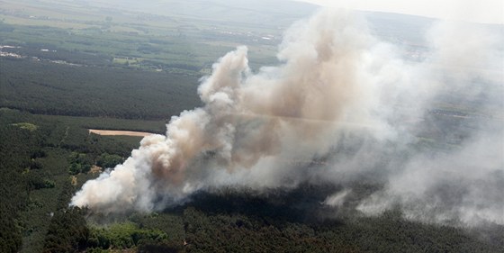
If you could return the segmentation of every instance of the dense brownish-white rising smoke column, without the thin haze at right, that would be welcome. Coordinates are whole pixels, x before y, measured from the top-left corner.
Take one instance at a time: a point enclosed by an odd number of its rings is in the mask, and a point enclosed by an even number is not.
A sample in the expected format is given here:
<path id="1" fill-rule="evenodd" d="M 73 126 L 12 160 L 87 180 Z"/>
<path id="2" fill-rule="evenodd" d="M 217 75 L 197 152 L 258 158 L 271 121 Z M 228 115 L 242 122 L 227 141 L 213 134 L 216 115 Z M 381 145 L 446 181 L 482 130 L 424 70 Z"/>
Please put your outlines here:
<path id="1" fill-rule="evenodd" d="M 352 15 L 330 12 L 298 23 L 281 46 L 282 64 L 257 74 L 247 48 L 229 52 L 198 89 L 202 108 L 173 117 L 166 136 L 141 140 L 123 164 L 86 182 L 72 204 L 148 212 L 211 186 L 295 185 L 284 161 L 329 149 L 338 122 L 365 96 L 358 72 L 369 35 L 349 23 L 356 23 Z"/>

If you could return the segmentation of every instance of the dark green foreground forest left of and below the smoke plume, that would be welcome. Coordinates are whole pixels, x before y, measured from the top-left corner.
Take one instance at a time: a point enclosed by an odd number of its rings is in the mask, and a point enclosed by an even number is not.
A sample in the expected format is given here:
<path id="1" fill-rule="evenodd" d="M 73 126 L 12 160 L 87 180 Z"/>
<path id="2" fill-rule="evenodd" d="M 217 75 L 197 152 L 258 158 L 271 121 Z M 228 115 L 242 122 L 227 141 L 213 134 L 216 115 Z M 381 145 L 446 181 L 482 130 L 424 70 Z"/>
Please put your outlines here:
<path id="1" fill-rule="evenodd" d="M 104 216 L 69 207 L 93 167 L 113 167 L 136 137 L 89 134 L 85 121 L 0 110 L 2 252 L 502 252 L 504 228 L 466 230 L 367 217 L 320 205 L 338 185 L 267 195 L 222 190 L 150 214 Z M 121 124 L 121 126 L 124 126 Z M 151 129 L 153 130 L 153 129 Z M 380 185 L 358 185 L 365 196 Z"/>

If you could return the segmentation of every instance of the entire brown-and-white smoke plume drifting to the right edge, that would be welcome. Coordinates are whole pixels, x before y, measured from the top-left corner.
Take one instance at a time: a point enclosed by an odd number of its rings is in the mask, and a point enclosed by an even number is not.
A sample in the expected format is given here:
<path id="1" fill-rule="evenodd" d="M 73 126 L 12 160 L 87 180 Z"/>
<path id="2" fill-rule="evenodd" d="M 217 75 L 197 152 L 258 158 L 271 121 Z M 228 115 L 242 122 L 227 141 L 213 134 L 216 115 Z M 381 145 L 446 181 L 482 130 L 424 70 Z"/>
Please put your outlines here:
<path id="1" fill-rule="evenodd" d="M 151 212 L 200 190 L 365 178 L 384 186 L 361 212 L 504 224 L 500 35 L 438 24 L 431 50 L 410 60 L 371 33 L 355 14 L 322 11 L 285 33 L 277 67 L 254 73 L 246 47 L 229 52 L 202 79 L 204 106 L 141 140 L 71 204 Z"/>

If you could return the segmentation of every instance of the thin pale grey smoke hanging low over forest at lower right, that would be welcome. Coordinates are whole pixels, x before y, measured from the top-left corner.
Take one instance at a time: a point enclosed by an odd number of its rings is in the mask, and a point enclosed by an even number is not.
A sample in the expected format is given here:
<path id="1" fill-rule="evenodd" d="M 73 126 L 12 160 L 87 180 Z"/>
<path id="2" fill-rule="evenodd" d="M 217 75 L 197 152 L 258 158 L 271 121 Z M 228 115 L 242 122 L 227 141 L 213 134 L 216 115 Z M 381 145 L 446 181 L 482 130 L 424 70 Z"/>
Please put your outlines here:
<path id="1" fill-rule="evenodd" d="M 357 209 L 373 214 L 401 204 L 407 218 L 419 221 L 504 224 L 502 141 L 487 136 L 455 153 L 413 158 Z"/>

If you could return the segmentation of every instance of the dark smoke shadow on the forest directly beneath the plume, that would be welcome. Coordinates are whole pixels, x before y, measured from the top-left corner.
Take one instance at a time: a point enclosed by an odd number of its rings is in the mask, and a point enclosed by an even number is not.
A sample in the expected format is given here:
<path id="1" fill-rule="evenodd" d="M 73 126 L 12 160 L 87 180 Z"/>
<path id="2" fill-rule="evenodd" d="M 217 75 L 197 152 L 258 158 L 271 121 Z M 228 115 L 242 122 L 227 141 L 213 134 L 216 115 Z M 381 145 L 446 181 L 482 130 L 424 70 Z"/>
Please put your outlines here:
<path id="1" fill-rule="evenodd" d="M 340 218 L 356 213 L 360 200 L 380 189 L 379 185 L 353 185 L 353 191 L 343 205 L 329 206 L 324 202 L 329 195 L 345 191 L 344 185 L 311 185 L 304 183 L 294 189 L 278 188 L 264 192 L 251 189 L 224 188 L 200 191 L 183 205 L 166 208 L 163 212 L 182 213 L 193 207 L 209 215 L 245 215 L 264 221 L 338 223 Z"/>

